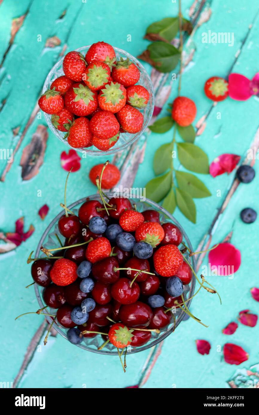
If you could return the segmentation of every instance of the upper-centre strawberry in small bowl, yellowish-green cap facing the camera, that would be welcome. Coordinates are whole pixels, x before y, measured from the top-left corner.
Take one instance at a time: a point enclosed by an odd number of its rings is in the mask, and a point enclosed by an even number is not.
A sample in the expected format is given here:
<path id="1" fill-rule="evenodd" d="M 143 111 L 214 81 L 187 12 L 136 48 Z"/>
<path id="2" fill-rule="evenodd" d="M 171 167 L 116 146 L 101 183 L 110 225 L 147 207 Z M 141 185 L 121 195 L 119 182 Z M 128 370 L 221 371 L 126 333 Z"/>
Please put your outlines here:
<path id="1" fill-rule="evenodd" d="M 92 90 L 97 91 L 110 82 L 111 69 L 104 62 L 92 61 L 86 68 L 83 76 L 84 83 Z"/>

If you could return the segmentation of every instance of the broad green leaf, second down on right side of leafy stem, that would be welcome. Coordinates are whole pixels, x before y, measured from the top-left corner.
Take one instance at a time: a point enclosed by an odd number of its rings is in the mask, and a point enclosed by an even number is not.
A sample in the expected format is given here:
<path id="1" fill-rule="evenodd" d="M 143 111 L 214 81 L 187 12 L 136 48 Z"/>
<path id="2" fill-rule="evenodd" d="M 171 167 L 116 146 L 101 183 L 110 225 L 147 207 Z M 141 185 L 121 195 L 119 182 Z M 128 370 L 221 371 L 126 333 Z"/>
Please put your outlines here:
<path id="1" fill-rule="evenodd" d="M 185 168 L 196 173 L 209 173 L 207 154 L 191 143 L 177 143 L 178 159 Z"/>

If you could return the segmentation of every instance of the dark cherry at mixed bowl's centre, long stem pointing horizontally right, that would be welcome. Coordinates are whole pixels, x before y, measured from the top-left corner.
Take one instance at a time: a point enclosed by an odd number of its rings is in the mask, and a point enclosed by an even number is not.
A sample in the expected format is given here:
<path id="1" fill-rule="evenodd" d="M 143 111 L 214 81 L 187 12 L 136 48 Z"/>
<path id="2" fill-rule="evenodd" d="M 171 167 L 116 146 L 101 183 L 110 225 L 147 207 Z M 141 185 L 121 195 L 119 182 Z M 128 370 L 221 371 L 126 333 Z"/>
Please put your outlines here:
<path id="1" fill-rule="evenodd" d="M 92 265 L 92 274 L 97 281 L 113 284 L 120 278 L 120 271 L 115 272 L 115 267 L 119 267 L 116 256 L 109 256 Z"/>

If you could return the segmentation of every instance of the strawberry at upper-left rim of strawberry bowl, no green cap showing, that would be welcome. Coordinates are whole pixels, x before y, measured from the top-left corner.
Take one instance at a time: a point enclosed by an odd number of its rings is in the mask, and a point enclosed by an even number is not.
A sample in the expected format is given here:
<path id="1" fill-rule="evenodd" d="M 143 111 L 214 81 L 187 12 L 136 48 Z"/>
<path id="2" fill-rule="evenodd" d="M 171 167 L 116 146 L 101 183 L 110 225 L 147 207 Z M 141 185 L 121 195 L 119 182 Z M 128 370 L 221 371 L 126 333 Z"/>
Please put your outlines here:
<path id="1" fill-rule="evenodd" d="M 66 54 L 63 61 L 64 74 L 73 81 L 79 82 L 86 71 L 86 61 L 80 52 L 72 51 Z"/>

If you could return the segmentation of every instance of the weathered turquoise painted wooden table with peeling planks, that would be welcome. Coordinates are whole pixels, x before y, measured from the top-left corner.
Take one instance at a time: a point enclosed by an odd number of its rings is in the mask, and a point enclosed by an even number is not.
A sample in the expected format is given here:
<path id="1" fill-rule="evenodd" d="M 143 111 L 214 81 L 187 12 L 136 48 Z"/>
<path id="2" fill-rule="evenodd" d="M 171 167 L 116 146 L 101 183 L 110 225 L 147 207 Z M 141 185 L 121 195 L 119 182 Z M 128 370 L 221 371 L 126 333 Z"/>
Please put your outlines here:
<path id="1" fill-rule="evenodd" d="M 258 72 L 257 2 L 195 0 L 192 3 L 192 0 L 183 0 L 182 12 L 186 18 L 195 18 L 195 30 L 189 44 L 185 44 L 189 63 L 183 73 L 181 95 L 195 101 L 196 122 L 202 116 L 205 117 L 205 130 L 197 137 L 196 144 L 208 154 L 210 162 L 222 153 L 244 157 L 251 143 L 255 140 L 256 146 L 259 140 L 259 99 L 254 96 L 247 101 L 237 102 L 228 98 L 214 107 L 212 101 L 205 97 L 203 85 L 213 75 L 226 77 L 231 71 L 252 79 Z M 99 40 L 137 56 L 148 44 L 143 39 L 146 27 L 154 21 L 177 14 L 178 4 L 170 0 L 0 0 L 0 148 L 14 151 L 12 163 L 7 163 L 2 156 L 0 160 L 0 229 L 4 233 L 13 232 L 15 220 L 22 216 L 25 217 L 25 230 L 30 224 L 35 227 L 35 232 L 26 242 L 0 255 L 0 381 L 14 382 L 16 388 L 124 388 L 136 384 L 143 388 L 227 388 L 227 381 L 237 368 L 248 369 L 259 363 L 258 325 L 251 328 L 239 324 L 232 336 L 222 334 L 222 329 L 236 319 L 239 311 L 250 309 L 255 314 L 259 313 L 259 303 L 250 294 L 250 288 L 259 286 L 259 221 L 257 219 L 254 224 L 246 225 L 239 218 L 239 212 L 244 207 L 259 210 L 258 163 L 254 165 L 255 180 L 249 185 L 238 186 L 231 197 L 228 192 L 234 172 L 216 178 L 203 175 L 203 181 L 212 196 L 196 199 L 195 225 L 178 209 L 174 213 L 192 245 L 197 248 L 210 229 L 218 209 L 226 198 L 228 201 L 213 227 L 211 244 L 222 242 L 233 231 L 231 242 L 240 249 L 242 264 L 234 278 L 208 277 L 217 286 L 222 305 L 215 295 L 208 295 L 205 290 L 193 300 L 192 313 L 209 325 L 208 328 L 192 319 L 182 322 L 175 333 L 155 350 L 128 356 L 128 369 L 123 374 L 118 356 L 105 357 L 85 352 L 59 335 L 49 337 L 44 347 L 47 324 L 42 316 L 30 315 L 15 321 L 15 317 L 22 312 L 38 308 L 33 286 L 25 289 L 31 282 L 30 266 L 26 259 L 30 251 L 37 247 L 47 224 L 60 211 L 59 203 L 63 200 L 67 175 L 60 164 L 60 154 L 66 148 L 49 130 L 38 174 L 30 178 L 20 166 L 25 146 L 30 144 L 36 131 L 39 133 L 37 127 L 46 126 L 37 107 L 44 79 L 65 50 Z M 202 33 L 209 30 L 233 32 L 234 44 L 203 43 Z M 128 41 L 129 34 L 131 41 Z M 53 37 L 54 44 L 50 44 L 48 39 Z M 144 65 L 151 73 L 148 63 Z M 168 103 L 176 96 L 176 89 L 177 82 L 171 83 Z M 165 109 L 162 115 L 166 115 Z M 129 157 L 131 161 L 137 159 L 136 165 L 139 164 L 136 176 L 135 173 L 131 175 L 129 182 L 145 187 L 154 177 L 152 163 L 155 150 L 171 139 L 171 131 L 163 135 L 151 133 L 148 134 L 148 145 L 144 144 L 143 139 L 135 149 L 129 150 L 132 153 L 127 152 L 132 156 Z M 127 154 L 114 160 L 121 168 L 123 181 L 128 174 Z M 134 158 L 133 155 L 141 157 Z M 104 161 L 102 157 L 81 160 L 80 170 L 70 175 L 67 191 L 69 202 L 96 192 L 88 174 L 91 166 Z M 218 190 L 221 191 L 220 197 Z M 41 220 L 37 212 L 45 203 L 50 210 L 47 217 Z M 205 256 L 201 265 L 207 264 Z M 212 348 L 209 355 L 197 353 L 196 339 L 210 342 Z M 244 347 L 249 353 L 249 360 L 240 366 L 225 363 L 220 347 L 226 342 Z"/>

